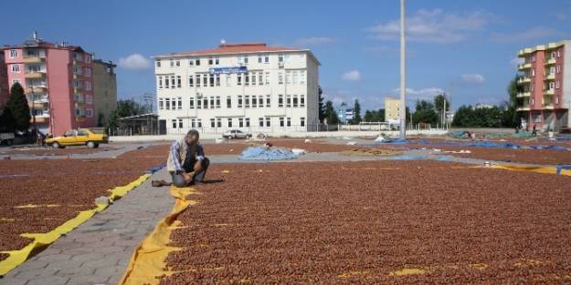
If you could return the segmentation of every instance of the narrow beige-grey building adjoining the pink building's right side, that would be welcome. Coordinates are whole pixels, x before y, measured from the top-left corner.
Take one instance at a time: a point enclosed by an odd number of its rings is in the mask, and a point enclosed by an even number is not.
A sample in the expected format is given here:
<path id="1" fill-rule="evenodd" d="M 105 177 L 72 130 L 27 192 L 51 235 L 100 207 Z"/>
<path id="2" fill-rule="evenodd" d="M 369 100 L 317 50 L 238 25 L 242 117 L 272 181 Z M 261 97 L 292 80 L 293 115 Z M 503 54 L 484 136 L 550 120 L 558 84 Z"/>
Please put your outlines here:
<path id="1" fill-rule="evenodd" d="M 117 75 L 111 62 L 93 60 L 93 113 L 97 125 L 103 126 L 117 108 Z"/>

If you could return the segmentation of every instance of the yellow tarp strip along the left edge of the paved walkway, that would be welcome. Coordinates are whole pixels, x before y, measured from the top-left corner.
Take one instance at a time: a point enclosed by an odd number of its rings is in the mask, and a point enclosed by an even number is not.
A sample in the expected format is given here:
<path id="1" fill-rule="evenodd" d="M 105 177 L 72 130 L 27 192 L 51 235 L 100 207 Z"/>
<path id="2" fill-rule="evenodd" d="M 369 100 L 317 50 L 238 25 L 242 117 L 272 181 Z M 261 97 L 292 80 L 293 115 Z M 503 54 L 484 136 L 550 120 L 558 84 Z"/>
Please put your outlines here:
<path id="1" fill-rule="evenodd" d="M 111 195 L 109 197 L 110 201 L 117 200 L 125 194 L 127 194 L 133 188 L 143 184 L 143 182 L 151 177 L 149 174 L 145 174 L 136 180 L 132 181 L 126 186 L 113 188 L 111 190 Z M 88 209 L 80 211 L 78 216 L 73 219 L 69 219 L 56 229 L 52 229 L 47 233 L 24 233 L 21 234 L 22 237 L 34 239 L 32 242 L 26 245 L 23 249 L 2 251 L 3 253 L 9 254 L 9 257 L 5 260 L 0 261 L 0 276 L 5 275 L 11 270 L 14 270 L 18 265 L 22 264 L 33 251 L 45 248 L 49 244 L 53 243 L 62 235 L 68 233 L 69 231 L 79 227 L 83 222 L 90 219 L 96 213 L 106 209 L 107 204 L 97 205 L 95 209 Z"/>

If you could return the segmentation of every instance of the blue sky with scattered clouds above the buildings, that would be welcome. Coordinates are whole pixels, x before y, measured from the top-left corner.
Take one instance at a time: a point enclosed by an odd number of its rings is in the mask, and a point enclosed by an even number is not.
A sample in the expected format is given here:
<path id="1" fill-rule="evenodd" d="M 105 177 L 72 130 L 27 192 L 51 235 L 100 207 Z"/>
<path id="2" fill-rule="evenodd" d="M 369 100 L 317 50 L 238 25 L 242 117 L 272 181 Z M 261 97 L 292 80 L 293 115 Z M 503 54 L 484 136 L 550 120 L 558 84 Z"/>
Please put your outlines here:
<path id="1" fill-rule="evenodd" d="M 57 4 L 57 5 L 56 5 Z M 2 1 L 0 45 L 34 30 L 118 63 L 119 98 L 155 94 L 151 56 L 265 42 L 310 48 L 335 105 L 383 107 L 398 97 L 399 1 Z M 407 0 L 407 102 L 450 94 L 460 105 L 499 104 L 517 51 L 571 38 L 571 0 Z"/>

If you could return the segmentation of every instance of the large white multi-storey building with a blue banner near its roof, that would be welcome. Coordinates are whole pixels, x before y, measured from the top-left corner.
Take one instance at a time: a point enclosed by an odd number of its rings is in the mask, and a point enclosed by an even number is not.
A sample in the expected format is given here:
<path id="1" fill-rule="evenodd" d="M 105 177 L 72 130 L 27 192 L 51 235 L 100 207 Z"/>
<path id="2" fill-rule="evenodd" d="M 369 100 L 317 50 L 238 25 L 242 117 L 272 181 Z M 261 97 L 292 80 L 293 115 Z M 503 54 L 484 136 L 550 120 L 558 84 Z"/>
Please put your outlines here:
<path id="1" fill-rule="evenodd" d="M 319 61 L 263 43 L 154 56 L 159 127 L 276 133 L 317 129 Z"/>

